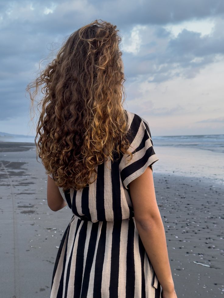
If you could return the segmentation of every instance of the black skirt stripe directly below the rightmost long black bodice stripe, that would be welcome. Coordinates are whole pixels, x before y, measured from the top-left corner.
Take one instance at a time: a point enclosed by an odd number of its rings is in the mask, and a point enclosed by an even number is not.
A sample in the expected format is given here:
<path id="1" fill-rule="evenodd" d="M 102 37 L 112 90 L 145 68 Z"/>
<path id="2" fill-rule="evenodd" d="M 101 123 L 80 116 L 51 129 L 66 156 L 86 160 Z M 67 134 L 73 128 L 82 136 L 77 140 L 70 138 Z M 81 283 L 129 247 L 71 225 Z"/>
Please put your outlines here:
<path id="1" fill-rule="evenodd" d="M 113 298 L 118 297 L 120 238 L 121 238 L 121 221 L 114 221 L 114 226 L 112 231 L 110 287 L 109 287 L 110 297 L 113 297 Z"/>

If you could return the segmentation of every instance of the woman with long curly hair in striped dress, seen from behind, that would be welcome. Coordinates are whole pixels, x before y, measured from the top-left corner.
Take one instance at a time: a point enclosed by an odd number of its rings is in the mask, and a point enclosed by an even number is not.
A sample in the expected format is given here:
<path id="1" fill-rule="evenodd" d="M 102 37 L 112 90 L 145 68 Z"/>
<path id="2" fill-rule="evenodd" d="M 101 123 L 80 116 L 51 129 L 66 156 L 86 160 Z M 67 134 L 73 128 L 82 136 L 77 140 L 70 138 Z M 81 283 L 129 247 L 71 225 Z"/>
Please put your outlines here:
<path id="1" fill-rule="evenodd" d="M 98 20 L 83 26 L 27 87 L 32 107 L 40 86 L 44 94 L 35 143 L 48 174 L 48 206 L 68 205 L 73 214 L 51 298 L 177 297 L 156 204 L 158 157 L 149 124 L 122 107 L 118 31 Z"/>

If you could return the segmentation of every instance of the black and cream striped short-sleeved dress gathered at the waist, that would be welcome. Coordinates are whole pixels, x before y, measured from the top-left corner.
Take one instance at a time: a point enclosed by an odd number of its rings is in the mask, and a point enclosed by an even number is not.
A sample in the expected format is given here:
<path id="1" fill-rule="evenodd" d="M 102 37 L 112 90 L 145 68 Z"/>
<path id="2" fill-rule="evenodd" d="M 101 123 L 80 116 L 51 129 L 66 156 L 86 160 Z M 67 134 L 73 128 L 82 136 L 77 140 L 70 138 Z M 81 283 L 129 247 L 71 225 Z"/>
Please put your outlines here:
<path id="1" fill-rule="evenodd" d="M 131 161 L 124 155 L 97 166 L 96 181 L 82 190 L 64 193 L 59 188 L 73 216 L 58 249 L 50 298 L 161 297 L 128 187 L 159 158 L 148 122 L 125 111 L 131 151 L 136 149 Z"/>

